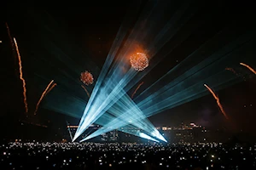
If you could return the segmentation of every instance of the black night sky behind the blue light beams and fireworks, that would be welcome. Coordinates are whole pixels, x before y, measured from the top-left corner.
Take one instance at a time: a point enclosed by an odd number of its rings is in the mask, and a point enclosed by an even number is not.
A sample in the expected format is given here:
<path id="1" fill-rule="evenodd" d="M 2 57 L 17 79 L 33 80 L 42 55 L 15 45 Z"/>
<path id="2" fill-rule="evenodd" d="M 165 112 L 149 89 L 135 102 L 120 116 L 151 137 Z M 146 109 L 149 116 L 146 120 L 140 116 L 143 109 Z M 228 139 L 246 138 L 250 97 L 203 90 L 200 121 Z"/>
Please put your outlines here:
<path id="1" fill-rule="evenodd" d="M 88 101 L 83 89 L 76 83 L 76 81 L 79 82 L 79 73 L 88 70 L 96 79 L 119 27 L 126 19 L 125 14 L 132 14 L 134 10 L 131 18 L 128 17 L 129 20 L 132 20 L 131 26 L 128 27 L 129 33 L 131 33 L 136 21 L 148 8 L 148 1 L 146 0 L 140 3 L 139 1 L 93 2 L 90 4 L 58 3 L 51 4 L 47 8 L 43 7 L 46 4 L 40 6 L 39 4 L 6 3 L 3 5 L 0 20 L 0 40 L 2 41 L 0 43 L 2 60 L 0 116 L 22 117 L 26 114 L 24 113 L 18 60 L 9 42 L 6 22 L 9 25 L 11 36 L 16 38 L 20 48 L 23 73 L 26 79 L 29 116 L 32 116 L 32 111 L 34 111 L 41 93 L 52 79 L 58 83 L 57 88 L 65 91 L 67 95 Z M 185 2 L 166 1 L 165 8 L 170 8 L 170 10 L 166 10 L 168 13 L 161 14 L 159 18 L 155 17 L 154 20 L 149 20 L 149 23 L 152 25 L 157 25 L 158 22 L 162 25 L 166 24 L 174 12 Z M 178 29 L 174 37 L 166 42 L 163 48 L 160 48 L 155 55 L 155 60 L 150 60 L 150 62 L 157 60 L 159 64 L 149 71 L 147 76 L 143 77 L 141 81 L 144 82 L 143 86 L 137 91 L 137 94 L 141 94 L 150 84 L 156 82 L 167 71 L 181 63 L 183 59 L 216 36 L 218 32 L 222 31 L 223 34 L 219 39 L 216 39 L 216 43 L 228 44 L 236 37 L 256 30 L 256 15 L 253 4 L 234 3 L 232 1 L 213 1 L 212 3 L 195 1 L 192 5 L 197 8 L 195 14 Z M 135 7 L 137 10 L 134 9 Z M 154 13 L 160 14 L 161 11 L 159 9 L 154 10 Z M 148 29 L 150 28 L 148 27 Z M 155 33 L 156 31 L 157 29 L 152 32 Z M 187 37 L 181 42 L 180 38 L 185 35 Z M 153 39 L 154 35 L 146 37 L 144 41 L 150 42 Z M 252 41 L 255 42 L 255 39 L 256 37 L 253 37 L 252 34 Z M 162 54 L 165 54 L 170 47 L 175 48 L 163 57 Z M 204 50 L 205 53 L 211 53 L 210 50 Z M 254 59 L 248 57 L 247 59 L 247 56 L 253 53 L 255 53 L 255 48 L 248 48 L 248 50 L 240 53 L 239 58 L 241 58 L 241 62 L 250 61 L 247 64 L 256 70 L 256 57 Z M 197 61 L 195 59 L 193 65 L 199 61 L 200 59 Z M 255 134 L 256 127 L 253 124 L 256 118 L 256 78 L 253 73 L 247 71 L 239 63 L 237 65 L 227 64 L 226 67 L 232 67 L 239 74 L 247 75 L 240 77 L 241 81 L 236 84 L 217 91 L 224 110 L 230 116 L 230 121 L 224 119 L 216 100 L 210 93 L 207 96 L 151 116 L 149 120 L 155 126 L 175 126 L 181 122 L 195 122 L 206 127 L 229 128 L 236 132 L 242 129 L 245 132 Z M 177 75 L 183 74 L 184 71 L 182 69 L 180 71 L 177 72 Z M 230 74 L 233 73 L 230 72 Z M 161 85 L 164 86 L 168 81 L 172 81 L 172 77 L 161 82 Z M 128 94 L 131 94 L 135 88 L 136 86 L 131 88 Z M 90 92 L 92 89 L 93 86 L 88 87 Z M 73 124 L 79 123 L 77 118 L 45 109 L 44 104 L 49 102 L 48 99 L 50 99 L 50 95 L 42 101 L 38 116 L 32 116 L 30 120 L 36 122 L 50 121 L 56 124 L 65 124 L 66 120 Z"/>

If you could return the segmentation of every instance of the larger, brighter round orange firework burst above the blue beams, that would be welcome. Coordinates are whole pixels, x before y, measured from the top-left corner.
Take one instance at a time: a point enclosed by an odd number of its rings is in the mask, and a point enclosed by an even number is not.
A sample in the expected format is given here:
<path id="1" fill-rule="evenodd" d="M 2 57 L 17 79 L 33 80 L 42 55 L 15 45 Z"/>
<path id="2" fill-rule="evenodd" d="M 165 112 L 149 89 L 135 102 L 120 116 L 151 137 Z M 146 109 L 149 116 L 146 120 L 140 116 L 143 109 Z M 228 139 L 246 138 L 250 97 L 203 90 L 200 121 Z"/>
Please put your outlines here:
<path id="1" fill-rule="evenodd" d="M 131 67 L 133 67 L 136 71 L 143 71 L 148 67 L 148 58 L 146 54 L 143 53 L 131 55 L 130 62 Z"/>

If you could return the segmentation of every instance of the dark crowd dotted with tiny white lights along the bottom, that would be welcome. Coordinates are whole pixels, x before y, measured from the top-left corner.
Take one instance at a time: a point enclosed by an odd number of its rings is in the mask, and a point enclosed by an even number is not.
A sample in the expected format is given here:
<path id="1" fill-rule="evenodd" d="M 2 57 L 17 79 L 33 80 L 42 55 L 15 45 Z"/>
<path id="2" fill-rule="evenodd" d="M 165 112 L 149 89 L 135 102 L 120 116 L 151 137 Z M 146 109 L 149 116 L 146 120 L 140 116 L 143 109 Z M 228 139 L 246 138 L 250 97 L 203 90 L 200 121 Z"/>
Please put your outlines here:
<path id="1" fill-rule="evenodd" d="M 255 145 L 21 143 L 0 145 L 0 169 L 256 169 Z"/>

